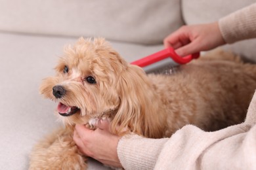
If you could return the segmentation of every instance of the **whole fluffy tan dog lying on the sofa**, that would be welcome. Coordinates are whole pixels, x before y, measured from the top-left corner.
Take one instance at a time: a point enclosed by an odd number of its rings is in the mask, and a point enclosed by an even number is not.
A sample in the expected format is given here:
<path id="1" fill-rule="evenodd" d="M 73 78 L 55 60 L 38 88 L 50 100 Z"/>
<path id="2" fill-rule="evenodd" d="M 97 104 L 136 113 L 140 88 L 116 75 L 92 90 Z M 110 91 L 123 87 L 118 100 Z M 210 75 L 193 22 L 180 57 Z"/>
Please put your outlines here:
<path id="1" fill-rule="evenodd" d="M 215 131 L 245 118 L 256 88 L 256 66 L 223 52 L 182 65 L 172 75 L 146 75 L 104 39 L 79 39 L 65 49 L 56 76 L 40 92 L 58 102 L 66 125 L 33 149 L 30 169 L 85 169 L 73 141 L 75 124 L 109 118 L 117 135 L 170 137 L 186 124 Z M 220 59 L 222 58 L 222 59 Z"/>

